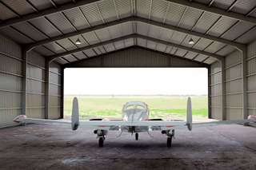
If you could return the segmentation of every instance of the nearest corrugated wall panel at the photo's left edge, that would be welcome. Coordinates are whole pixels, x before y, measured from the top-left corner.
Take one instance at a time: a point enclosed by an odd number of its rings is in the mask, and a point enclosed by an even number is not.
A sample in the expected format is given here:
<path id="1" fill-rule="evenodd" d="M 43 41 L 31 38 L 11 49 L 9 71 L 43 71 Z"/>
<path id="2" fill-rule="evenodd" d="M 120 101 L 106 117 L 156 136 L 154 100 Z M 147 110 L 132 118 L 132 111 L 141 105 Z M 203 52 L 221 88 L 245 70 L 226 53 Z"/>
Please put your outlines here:
<path id="1" fill-rule="evenodd" d="M 22 48 L 0 37 L 0 128 L 16 125 L 22 109 Z"/>

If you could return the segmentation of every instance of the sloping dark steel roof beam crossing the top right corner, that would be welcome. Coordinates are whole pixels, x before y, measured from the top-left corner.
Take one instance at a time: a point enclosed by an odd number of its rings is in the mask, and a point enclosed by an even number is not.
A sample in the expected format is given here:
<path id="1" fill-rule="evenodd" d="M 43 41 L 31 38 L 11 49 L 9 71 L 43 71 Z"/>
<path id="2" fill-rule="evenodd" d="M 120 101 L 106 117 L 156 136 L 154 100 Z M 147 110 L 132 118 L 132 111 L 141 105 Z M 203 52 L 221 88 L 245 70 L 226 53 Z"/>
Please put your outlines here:
<path id="1" fill-rule="evenodd" d="M 250 22 L 254 25 L 256 24 L 256 18 L 246 17 L 243 14 L 238 14 L 238 13 L 234 13 L 234 12 L 226 12 L 226 10 L 216 8 L 214 6 L 211 6 L 209 8 L 209 7 L 205 6 L 202 3 L 198 3 L 198 2 L 191 2 L 190 3 L 186 0 L 166 0 L 166 1 L 167 2 L 173 2 L 173 3 L 181 5 L 181 6 L 189 6 L 190 8 L 194 8 L 195 10 L 203 10 L 203 11 L 206 11 L 208 13 L 218 14 L 218 15 L 223 16 L 223 17 L 232 18 L 232 19 L 236 19 L 236 20 L 241 20 L 243 22 Z"/>

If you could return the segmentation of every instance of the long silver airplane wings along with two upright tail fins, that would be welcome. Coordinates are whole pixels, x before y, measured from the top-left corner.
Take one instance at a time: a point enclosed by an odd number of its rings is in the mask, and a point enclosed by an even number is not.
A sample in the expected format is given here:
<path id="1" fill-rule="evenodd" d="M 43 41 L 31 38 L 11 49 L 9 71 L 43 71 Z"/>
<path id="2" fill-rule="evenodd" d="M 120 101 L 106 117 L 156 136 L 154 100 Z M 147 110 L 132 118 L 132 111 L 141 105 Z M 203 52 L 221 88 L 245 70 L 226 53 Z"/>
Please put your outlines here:
<path id="1" fill-rule="evenodd" d="M 102 129 L 102 130 L 118 130 L 120 126 L 147 126 L 151 130 L 171 130 L 179 128 L 188 128 L 192 130 L 197 127 L 206 127 L 214 125 L 230 125 L 230 124 L 242 124 L 256 122 L 256 116 L 251 115 L 248 119 L 238 120 L 238 121 L 212 121 L 212 122 L 202 122 L 202 123 L 192 123 L 192 111 L 191 111 L 191 101 L 190 97 L 187 102 L 186 108 L 186 121 L 79 121 L 79 110 L 78 110 L 78 99 L 74 97 L 72 117 L 70 121 L 54 121 L 54 120 L 43 120 L 43 119 L 30 119 L 25 115 L 19 115 L 15 117 L 13 121 L 15 122 L 26 122 L 26 123 L 36 123 L 45 125 L 64 125 L 71 126 L 73 130 L 76 130 L 78 126 L 82 128 L 92 128 L 92 129 Z"/>

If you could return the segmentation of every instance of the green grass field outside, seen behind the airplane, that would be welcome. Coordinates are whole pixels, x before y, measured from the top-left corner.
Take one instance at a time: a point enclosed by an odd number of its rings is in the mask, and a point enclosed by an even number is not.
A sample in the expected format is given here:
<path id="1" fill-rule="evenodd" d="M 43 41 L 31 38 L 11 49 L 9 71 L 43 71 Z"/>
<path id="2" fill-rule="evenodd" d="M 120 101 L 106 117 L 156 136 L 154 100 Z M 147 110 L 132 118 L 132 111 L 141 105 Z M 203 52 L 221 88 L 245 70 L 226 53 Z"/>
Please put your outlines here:
<path id="1" fill-rule="evenodd" d="M 74 96 L 64 97 L 64 117 L 71 116 Z M 121 118 L 122 106 L 127 101 L 145 101 L 149 105 L 150 118 L 186 118 L 187 97 L 139 97 L 139 96 L 78 96 L 80 117 Z M 193 117 L 208 117 L 206 96 L 191 97 Z"/>

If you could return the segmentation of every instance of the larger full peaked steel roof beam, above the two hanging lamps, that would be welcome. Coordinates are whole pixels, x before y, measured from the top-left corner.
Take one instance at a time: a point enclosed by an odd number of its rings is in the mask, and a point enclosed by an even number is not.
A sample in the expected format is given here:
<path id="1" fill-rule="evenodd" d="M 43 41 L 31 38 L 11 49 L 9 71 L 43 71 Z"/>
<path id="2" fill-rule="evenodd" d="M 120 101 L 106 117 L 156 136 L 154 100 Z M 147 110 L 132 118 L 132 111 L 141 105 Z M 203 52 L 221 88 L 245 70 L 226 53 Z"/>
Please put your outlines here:
<path id="1" fill-rule="evenodd" d="M 51 38 L 50 40 L 42 40 L 42 41 L 37 42 L 35 45 L 34 44 L 30 45 L 30 48 L 33 48 L 34 46 L 38 46 L 38 45 L 43 45 L 43 44 L 46 44 L 46 43 L 49 43 L 49 42 L 56 42 L 58 40 L 62 40 L 62 39 L 65 39 L 65 38 L 70 38 L 70 37 L 73 37 L 73 36 L 77 36 L 78 34 L 86 34 L 86 33 L 89 33 L 89 32 L 93 32 L 95 30 L 106 29 L 107 27 L 117 26 L 119 24 L 126 23 L 126 22 L 142 22 L 142 23 L 145 23 L 145 24 L 150 24 L 152 26 L 158 26 L 160 28 L 165 28 L 165 29 L 168 29 L 168 30 L 174 30 L 174 31 L 177 31 L 177 32 L 180 32 L 180 33 L 183 33 L 183 34 L 190 34 L 190 35 L 193 35 L 193 36 L 196 36 L 196 37 L 206 38 L 206 39 L 214 41 L 214 42 L 221 42 L 221 43 L 224 43 L 224 44 L 232 45 L 232 46 L 235 46 L 237 49 L 239 49 L 240 47 L 245 46 L 244 44 L 241 44 L 241 43 L 238 43 L 238 42 L 231 42 L 229 40 L 222 39 L 222 38 L 216 38 L 216 37 L 211 36 L 211 35 L 205 35 L 205 34 L 202 34 L 202 33 L 194 32 L 194 31 L 190 31 L 190 30 L 186 30 L 186 29 L 182 29 L 182 28 L 177 28 L 176 26 L 170 26 L 170 25 L 162 24 L 161 22 L 155 22 L 155 21 L 152 21 L 152 20 L 149 21 L 146 18 L 136 17 L 136 18 L 125 18 L 125 19 L 120 20 L 119 22 L 118 21 L 109 22 L 109 23 L 106 23 L 106 25 L 94 26 L 91 29 L 87 28 L 87 29 L 83 29 L 83 30 L 78 30 L 78 32 L 73 32 L 73 33 L 68 33 L 68 34 L 65 34 L 65 35 L 60 35 L 60 36 Z"/>

